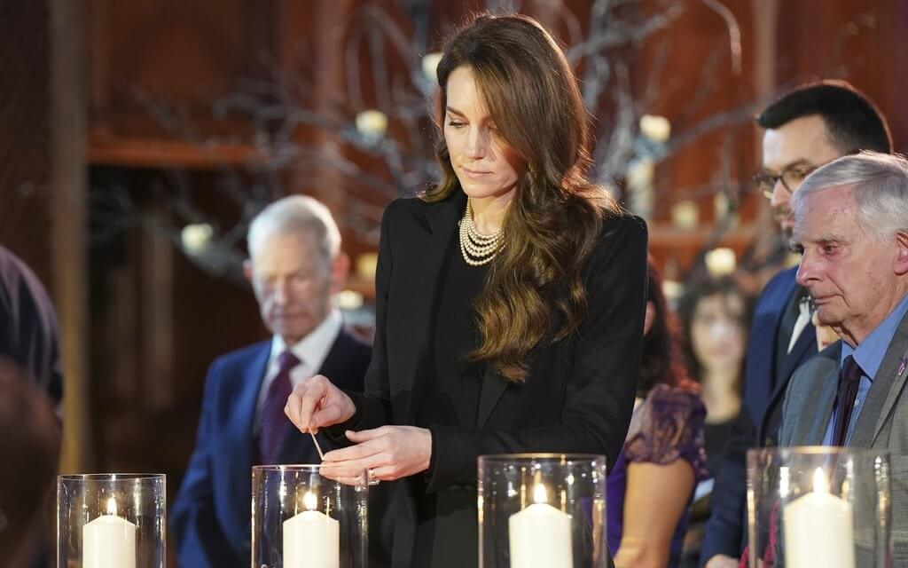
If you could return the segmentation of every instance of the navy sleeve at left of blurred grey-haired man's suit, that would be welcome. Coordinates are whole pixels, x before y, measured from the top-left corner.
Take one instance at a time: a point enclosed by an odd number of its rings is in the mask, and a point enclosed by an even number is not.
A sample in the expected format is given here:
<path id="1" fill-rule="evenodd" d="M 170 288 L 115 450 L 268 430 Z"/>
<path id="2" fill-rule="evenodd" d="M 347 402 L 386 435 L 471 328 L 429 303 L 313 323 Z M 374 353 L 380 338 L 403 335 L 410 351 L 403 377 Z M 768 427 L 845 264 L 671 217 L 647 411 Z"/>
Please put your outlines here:
<path id="1" fill-rule="evenodd" d="M 177 565 L 182 568 L 227 568 L 248 565 L 239 558 L 222 533 L 215 516 L 212 493 L 213 407 L 215 384 L 221 365 L 215 361 L 205 378 L 202 416 L 195 449 L 186 468 L 183 484 L 173 502 L 171 533 L 176 544 Z"/>

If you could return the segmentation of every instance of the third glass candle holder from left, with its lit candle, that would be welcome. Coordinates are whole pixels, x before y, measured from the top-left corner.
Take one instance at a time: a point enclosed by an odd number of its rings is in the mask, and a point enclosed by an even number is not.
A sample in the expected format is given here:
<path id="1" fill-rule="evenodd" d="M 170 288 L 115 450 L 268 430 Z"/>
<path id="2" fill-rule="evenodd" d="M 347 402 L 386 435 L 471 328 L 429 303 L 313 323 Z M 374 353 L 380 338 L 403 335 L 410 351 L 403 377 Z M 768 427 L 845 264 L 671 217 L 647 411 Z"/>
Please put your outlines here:
<path id="1" fill-rule="evenodd" d="M 606 458 L 479 457 L 479 568 L 604 568 Z"/>

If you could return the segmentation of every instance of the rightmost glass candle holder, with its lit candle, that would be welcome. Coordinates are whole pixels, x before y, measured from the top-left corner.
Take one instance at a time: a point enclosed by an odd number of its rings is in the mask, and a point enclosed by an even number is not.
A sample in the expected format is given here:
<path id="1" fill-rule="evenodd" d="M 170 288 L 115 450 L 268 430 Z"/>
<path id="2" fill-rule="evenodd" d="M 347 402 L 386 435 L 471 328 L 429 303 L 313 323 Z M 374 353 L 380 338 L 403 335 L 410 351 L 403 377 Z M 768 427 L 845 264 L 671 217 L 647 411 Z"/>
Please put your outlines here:
<path id="1" fill-rule="evenodd" d="M 747 452 L 751 566 L 886 568 L 891 514 L 885 451 L 810 446 Z"/>

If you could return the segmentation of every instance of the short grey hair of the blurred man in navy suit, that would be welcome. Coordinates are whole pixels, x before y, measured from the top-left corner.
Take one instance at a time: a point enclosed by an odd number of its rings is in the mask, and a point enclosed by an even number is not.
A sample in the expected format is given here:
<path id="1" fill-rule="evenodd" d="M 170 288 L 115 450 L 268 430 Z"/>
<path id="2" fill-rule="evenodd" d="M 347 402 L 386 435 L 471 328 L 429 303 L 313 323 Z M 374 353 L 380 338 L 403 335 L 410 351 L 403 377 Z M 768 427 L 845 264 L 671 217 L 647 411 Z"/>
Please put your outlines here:
<path id="1" fill-rule="evenodd" d="M 282 197 L 255 215 L 246 234 L 250 256 L 263 238 L 286 233 L 313 235 L 326 261 L 341 252 L 341 232 L 331 211 L 308 195 Z"/>

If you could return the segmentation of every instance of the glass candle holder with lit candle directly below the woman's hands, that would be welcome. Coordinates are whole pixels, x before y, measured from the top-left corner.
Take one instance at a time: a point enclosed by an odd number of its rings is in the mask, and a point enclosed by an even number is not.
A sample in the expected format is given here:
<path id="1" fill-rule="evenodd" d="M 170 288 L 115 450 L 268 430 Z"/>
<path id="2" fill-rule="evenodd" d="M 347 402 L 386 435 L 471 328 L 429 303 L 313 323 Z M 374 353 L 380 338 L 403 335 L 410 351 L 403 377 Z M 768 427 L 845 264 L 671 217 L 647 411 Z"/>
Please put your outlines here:
<path id="1" fill-rule="evenodd" d="M 252 566 L 365 568 L 369 483 L 322 475 L 321 465 L 252 467 Z"/>

